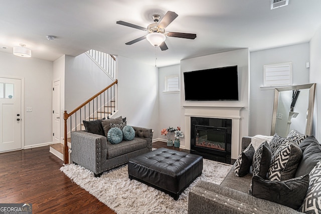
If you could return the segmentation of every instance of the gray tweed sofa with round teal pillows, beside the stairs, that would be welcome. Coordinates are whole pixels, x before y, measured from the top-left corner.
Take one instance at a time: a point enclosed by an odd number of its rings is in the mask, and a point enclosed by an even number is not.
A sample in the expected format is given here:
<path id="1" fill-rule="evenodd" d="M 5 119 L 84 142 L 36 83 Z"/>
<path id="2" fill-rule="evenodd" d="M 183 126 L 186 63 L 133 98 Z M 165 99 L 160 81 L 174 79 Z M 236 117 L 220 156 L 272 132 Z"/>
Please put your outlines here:
<path id="1" fill-rule="evenodd" d="M 102 135 L 71 132 L 71 161 L 100 176 L 104 171 L 128 163 L 131 157 L 151 151 L 152 129 L 132 127 L 135 138 L 118 144 L 111 144 Z"/>

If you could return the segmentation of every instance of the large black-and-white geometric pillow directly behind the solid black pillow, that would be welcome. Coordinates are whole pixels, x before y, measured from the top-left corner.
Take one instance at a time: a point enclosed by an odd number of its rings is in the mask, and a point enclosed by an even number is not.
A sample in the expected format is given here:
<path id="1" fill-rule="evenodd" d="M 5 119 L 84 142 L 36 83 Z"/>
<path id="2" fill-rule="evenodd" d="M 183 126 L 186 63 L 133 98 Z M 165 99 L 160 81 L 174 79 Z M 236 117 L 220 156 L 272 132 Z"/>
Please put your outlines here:
<path id="1" fill-rule="evenodd" d="M 296 143 L 285 140 L 272 157 L 268 179 L 280 181 L 294 178 L 301 157 L 300 147 Z"/>

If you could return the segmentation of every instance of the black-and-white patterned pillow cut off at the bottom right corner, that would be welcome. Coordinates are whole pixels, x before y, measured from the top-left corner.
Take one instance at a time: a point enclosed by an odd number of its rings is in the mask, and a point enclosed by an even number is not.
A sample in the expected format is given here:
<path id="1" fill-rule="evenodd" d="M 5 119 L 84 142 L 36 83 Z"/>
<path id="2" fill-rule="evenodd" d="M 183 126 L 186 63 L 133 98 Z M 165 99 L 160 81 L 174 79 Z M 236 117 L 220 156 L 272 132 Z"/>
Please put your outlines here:
<path id="1" fill-rule="evenodd" d="M 310 172 L 309 188 L 299 211 L 304 213 L 321 213 L 321 162 Z"/>

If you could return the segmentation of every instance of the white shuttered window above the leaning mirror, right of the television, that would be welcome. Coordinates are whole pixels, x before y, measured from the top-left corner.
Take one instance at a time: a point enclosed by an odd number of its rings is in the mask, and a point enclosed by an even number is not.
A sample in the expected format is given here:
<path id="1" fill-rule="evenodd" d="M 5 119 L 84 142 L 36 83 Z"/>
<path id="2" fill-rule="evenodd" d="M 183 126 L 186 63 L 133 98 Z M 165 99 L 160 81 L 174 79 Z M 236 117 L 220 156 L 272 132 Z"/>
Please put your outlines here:
<path id="1" fill-rule="evenodd" d="M 264 65 L 264 86 L 292 85 L 292 63 Z"/>

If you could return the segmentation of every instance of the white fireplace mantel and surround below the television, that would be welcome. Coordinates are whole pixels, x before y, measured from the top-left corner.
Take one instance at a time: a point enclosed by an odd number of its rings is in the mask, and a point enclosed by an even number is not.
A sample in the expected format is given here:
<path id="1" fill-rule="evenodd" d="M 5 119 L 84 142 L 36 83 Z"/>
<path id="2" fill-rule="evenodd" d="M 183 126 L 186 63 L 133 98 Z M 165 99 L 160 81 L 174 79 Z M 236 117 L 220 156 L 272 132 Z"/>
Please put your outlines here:
<path id="1" fill-rule="evenodd" d="M 182 106 L 185 109 L 185 149 L 191 149 L 191 117 L 232 119 L 231 158 L 237 159 L 240 150 L 240 120 L 243 106 Z"/>

